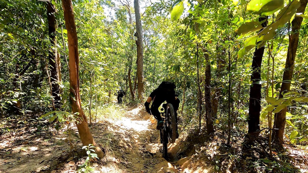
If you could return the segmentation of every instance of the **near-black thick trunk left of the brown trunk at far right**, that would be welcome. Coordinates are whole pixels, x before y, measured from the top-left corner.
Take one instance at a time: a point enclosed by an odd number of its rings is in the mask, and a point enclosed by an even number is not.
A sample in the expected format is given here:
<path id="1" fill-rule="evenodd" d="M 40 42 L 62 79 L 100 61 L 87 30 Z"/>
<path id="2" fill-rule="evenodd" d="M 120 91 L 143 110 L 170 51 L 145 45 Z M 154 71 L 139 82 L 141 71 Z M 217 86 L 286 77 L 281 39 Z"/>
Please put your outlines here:
<path id="1" fill-rule="evenodd" d="M 267 17 L 259 17 L 259 22 L 266 20 L 262 23 L 263 27 L 267 25 Z M 249 94 L 249 113 L 248 113 L 248 135 L 257 136 L 260 133 L 260 111 L 261 111 L 261 63 L 264 53 L 264 46 L 259 49 L 256 47 L 252 59 L 252 75 L 250 81 Z"/>

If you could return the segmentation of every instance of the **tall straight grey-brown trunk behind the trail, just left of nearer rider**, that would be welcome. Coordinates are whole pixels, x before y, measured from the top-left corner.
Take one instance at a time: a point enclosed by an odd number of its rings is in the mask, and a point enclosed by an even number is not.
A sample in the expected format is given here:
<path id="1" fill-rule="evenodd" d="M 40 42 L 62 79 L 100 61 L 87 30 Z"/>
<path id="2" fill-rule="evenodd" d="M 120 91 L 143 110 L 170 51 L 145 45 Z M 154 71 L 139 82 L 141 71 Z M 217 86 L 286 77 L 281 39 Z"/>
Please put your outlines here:
<path id="1" fill-rule="evenodd" d="M 143 77 L 143 37 L 142 25 L 140 17 L 139 0 L 134 0 L 135 16 L 136 16 L 136 34 L 137 37 L 137 80 L 138 80 L 138 99 L 144 99 L 144 77 Z"/>

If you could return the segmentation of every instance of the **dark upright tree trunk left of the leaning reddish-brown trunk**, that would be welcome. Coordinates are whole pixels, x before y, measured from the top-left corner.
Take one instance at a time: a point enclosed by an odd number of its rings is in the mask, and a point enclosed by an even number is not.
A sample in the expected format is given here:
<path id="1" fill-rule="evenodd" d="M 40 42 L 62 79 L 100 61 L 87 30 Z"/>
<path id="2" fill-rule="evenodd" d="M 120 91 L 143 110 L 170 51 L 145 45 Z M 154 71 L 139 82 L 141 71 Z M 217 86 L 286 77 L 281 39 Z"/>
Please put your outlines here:
<path id="1" fill-rule="evenodd" d="M 48 19 L 48 31 L 51 47 L 48 50 L 49 68 L 50 68 L 50 82 L 51 82 L 51 100 L 53 102 L 53 109 L 59 110 L 61 107 L 61 93 L 60 93 L 60 58 L 57 53 L 57 40 L 56 40 L 56 28 L 57 22 L 55 19 L 55 5 L 47 1 L 47 19 Z"/>

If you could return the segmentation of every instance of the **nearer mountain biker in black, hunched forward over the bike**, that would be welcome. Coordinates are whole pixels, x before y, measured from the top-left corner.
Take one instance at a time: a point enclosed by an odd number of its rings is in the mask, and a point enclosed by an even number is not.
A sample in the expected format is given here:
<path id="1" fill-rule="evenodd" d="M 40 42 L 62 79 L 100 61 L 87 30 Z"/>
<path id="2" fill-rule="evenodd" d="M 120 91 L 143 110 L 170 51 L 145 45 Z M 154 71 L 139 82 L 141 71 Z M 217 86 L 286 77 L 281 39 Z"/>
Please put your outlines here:
<path id="1" fill-rule="evenodd" d="M 171 103 L 176 116 L 176 137 L 178 138 L 178 131 L 177 131 L 177 110 L 179 109 L 180 100 L 176 97 L 174 89 L 176 86 L 174 83 L 171 82 L 161 82 L 161 84 L 156 88 L 150 96 L 148 97 L 147 101 L 144 103 L 145 110 L 154 116 L 154 118 L 157 120 L 157 126 L 156 129 L 161 129 L 164 126 L 163 119 L 160 116 L 160 112 L 158 111 L 158 108 L 160 105 L 167 101 L 167 103 Z M 151 109 L 149 107 L 151 101 L 153 100 Z"/>

